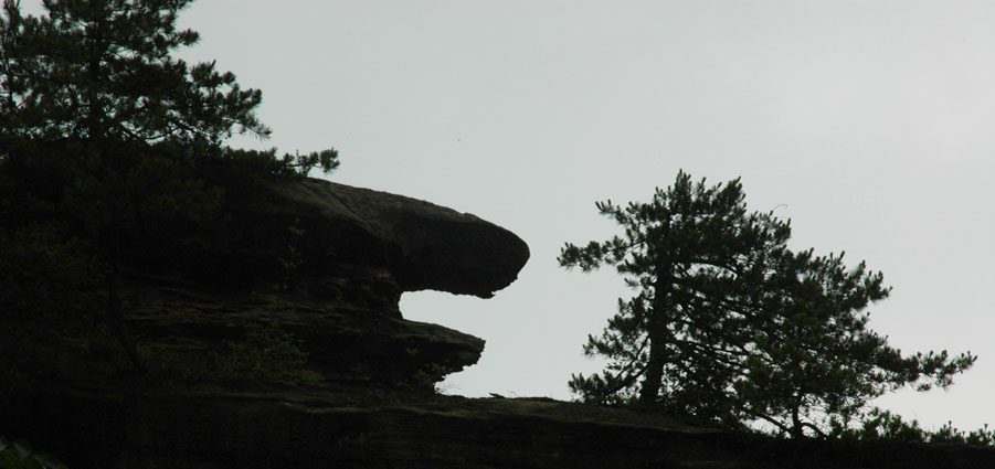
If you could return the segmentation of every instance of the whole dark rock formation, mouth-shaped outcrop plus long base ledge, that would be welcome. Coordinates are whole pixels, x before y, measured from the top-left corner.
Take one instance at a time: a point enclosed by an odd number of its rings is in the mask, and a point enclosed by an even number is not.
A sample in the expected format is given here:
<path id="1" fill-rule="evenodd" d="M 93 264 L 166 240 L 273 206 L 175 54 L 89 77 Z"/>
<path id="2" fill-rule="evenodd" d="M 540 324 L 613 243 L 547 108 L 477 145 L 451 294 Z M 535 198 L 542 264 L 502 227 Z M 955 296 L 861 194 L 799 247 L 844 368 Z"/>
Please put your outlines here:
<path id="1" fill-rule="evenodd" d="M 528 260 L 523 241 L 314 179 L 232 200 L 182 243 L 129 257 L 121 307 L 149 371 L 56 356 L 56 377 L 0 392 L 0 435 L 73 469 L 995 467 L 991 448 L 790 441 L 548 398 L 434 394 L 484 340 L 404 319 L 401 294 L 490 297 Z"/>

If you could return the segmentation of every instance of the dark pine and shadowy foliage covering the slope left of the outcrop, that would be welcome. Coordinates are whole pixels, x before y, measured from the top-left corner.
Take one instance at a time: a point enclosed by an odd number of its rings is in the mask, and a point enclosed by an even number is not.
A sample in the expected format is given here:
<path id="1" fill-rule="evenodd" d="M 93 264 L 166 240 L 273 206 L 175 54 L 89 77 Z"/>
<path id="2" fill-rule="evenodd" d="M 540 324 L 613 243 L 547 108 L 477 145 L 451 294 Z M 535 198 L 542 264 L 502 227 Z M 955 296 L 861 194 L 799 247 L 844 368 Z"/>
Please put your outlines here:
<path id="1" fill-rule="evenodd" d="M 277 157 L 224 145 L 272 130 L 255 114 L 262 92 L 173 56 L 199 40 L 176 26 L 191 1 L 43 0 L 41 17 L 3 1 L 0 315 L 27 321 L 8 331 L 4 366 L 44 374 L 57 356 L 105 350 L 109 333 L 144 372 L 120 311 L 127 264 L 218 251 L 190 233 L 227 230 L 218 220 L 231 198 L 338 167 L 335 149 Z"/>

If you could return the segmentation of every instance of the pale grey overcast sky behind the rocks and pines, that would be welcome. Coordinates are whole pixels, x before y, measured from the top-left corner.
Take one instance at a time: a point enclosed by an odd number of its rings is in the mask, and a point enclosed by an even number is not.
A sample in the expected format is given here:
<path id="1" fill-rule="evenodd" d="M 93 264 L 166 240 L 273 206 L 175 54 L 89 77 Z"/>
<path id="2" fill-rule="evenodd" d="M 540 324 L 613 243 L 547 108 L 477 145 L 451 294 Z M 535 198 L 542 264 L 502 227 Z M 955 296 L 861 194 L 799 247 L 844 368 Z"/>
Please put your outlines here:
<path id="1" fill-rule="evenodd" d="M 24 0 L 29 10 L 40 1 Z M 261 88 L 282 151 L 340 150 L 330 179 L 469 212 L 532 258 L 493 299 L 405 294 L 409 319 L 487 341 L 447 393 L 570 398 L 616 298 L 557 266 L 616 234 L 594 202 L 647 201 L 684 169 L 742 177 L 797 249 L 846 251 L 895 287 L 874 330 L 972 351 L 948 391 L 879 405 L 995 424 L 995 2 L 200 0 L 182 53 Z"/>

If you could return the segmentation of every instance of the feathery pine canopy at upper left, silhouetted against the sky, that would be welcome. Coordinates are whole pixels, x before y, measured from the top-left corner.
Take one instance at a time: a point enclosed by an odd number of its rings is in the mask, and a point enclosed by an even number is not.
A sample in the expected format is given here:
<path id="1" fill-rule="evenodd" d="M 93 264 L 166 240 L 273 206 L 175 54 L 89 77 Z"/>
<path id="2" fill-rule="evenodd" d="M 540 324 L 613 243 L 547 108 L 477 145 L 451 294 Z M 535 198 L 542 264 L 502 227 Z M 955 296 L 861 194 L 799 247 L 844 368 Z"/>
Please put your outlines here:
<path id="1" fill-rule="evenodd" d="M 176 28 L 191 1 L 44 0 L 47 14 L 39 18 L 4 0 L 4 139 L 220 143 L 233 131 L 268 136 L 254 114 L 262 92 L 242 89 L 213 62 L 172 57 L 199 40 Z"/>

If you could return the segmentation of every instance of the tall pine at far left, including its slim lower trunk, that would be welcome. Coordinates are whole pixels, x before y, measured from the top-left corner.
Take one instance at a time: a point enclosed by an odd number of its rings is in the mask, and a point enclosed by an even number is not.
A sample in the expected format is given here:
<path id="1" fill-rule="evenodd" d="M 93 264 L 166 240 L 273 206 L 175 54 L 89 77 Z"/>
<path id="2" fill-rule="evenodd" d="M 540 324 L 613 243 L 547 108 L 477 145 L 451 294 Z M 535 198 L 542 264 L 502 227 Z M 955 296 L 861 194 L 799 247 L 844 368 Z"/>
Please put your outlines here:
<path id="1" fill-rule="evenodd" d="M 43 0 L 22 15 L 3 0 L 0 17 L 0 182 L 30 207 L 15 225 L 70 218 L 106 263 L 106 320 L 137 369 L 119 306 L 123 251 L 135 233 L 203 217 L 218 190 L 195 178 L 194 160 L 232 160 L 235 132 L 266 138 L 257 89 L 213 62 L 172 56 L 198 42 L 178 30 L 192 0 Z M 334 149 L 276 159 L 267 171 L 303 174 L 338 166 Z M 151 228 L 151 230 L 150 230 Z"/>

